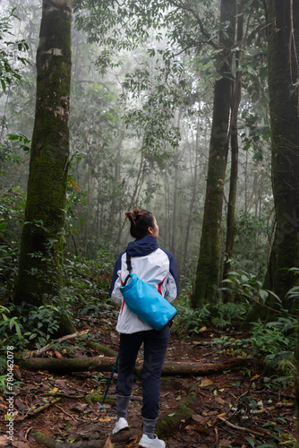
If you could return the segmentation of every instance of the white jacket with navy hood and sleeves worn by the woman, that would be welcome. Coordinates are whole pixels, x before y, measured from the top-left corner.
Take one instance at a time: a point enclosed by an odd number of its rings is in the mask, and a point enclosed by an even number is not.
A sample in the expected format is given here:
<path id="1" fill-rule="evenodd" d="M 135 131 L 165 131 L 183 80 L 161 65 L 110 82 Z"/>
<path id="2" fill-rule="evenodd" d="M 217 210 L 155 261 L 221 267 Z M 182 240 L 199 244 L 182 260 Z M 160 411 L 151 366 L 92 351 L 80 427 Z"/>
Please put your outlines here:
<path id="1" fill-rule="evenodd" d="M 124 303 L 124 297 L 120 287 L 129 274 L 126 263 L 126 252 L 131 255 L 132 272 L 141 280 L 158 289 L 158 292 L 168 302 L 172 302 L 178 293 L 178 281 L 176 265 L 173 254 L 161 249 L 155 237 L 147 235 L 141 239 L 132 241 L 125 252 L 119 254 L 115 271 L 112 277 L 110 296 L 121 306 L 116 324 L 116 331 L 121 333 L 142 332 L 152 328 L 141 321 L 141 319 Z"/>

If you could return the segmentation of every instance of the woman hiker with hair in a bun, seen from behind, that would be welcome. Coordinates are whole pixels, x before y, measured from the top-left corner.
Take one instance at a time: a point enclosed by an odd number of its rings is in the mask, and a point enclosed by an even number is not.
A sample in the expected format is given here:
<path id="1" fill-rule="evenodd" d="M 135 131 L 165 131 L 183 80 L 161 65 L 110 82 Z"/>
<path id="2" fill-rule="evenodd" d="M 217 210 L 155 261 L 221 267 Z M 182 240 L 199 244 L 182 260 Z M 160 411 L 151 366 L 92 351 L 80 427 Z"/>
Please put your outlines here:
<path id="1" fill-rule="evenodd" d="M 171 302 L 178 293 L 176 264 L 173 254 L 158 246 L 158 224 L 152 213 L 134 210 L 126 212 L 125 215 L 131 222 L 130 233 L 135 240 L 118 255 L 109 291 L 113 300 L 121 306 L 116 324 L 120 343 L 115 391 L 117 419 L 113 433 L 129 427 L 126 418 L 132 394 L 133 372 L 143 342 L 143 435 L 139 445 L 144 448 L 164 448 L 165 442 L 158 439 L 154 430 L 158 418 L 159 383 L 167 352 L 170 324 L 161 331 L 152 329 L 128 309 L 119 288 L 129 274 L 126 263 L 128 253 L 132 257 L 132 272 L 158 289 L 158 292 Z"/>

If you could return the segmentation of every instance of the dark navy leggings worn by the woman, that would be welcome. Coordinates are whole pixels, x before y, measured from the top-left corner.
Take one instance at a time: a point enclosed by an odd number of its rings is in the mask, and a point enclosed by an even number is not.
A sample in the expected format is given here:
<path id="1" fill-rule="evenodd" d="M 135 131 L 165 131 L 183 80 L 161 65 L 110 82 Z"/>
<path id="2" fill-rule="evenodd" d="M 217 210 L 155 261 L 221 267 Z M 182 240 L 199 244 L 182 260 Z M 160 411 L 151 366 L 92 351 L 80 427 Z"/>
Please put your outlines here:
<path id="1" fill-rule="evenodd" d="M 167 353 L 169 326 L 160 332 L 149 330 L 120 335 L 119 366 L 116 383 L 116 394 L 129 397 L 132 394 L 133 372 L 138 350 L 144 344 L 144 360 L 142 368 L 143 418 L 158 417 L 158 401 L 160 395 L 160 376 Z"/>

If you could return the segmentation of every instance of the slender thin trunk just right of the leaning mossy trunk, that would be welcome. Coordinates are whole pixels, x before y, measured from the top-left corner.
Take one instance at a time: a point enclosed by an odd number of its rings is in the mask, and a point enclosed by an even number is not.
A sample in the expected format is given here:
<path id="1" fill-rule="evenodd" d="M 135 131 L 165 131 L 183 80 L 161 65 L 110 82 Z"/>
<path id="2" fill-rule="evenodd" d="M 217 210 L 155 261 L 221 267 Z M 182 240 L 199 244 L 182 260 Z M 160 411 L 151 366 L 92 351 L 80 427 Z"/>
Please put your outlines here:
<path id="1" fill-rule="evenodd" d="M 242 45 L 243 40 L 243 14 L 239 15 L 237 20 L 236 44 Z M 239 159 L 239 144 L 238 144 L 238 112 L 241 101 L 242 90 L 242 71 L 238 70 L 239 63 L 242 60 L 242 51 L 235 52 L 235 84 L 234 95 L 232 101 L 231 113 L 231 170 L 229 179 L 229 195 L 227 205 L 226 218 L 226 262 L 223 270 L 223 279 L 227 278 L 227 274 L 231 269 L 231 258 L 233 256 L 234 240 L 235 240 L 235 199 L 236 199 L 236 185 L 238 178 L 238 159 Z M 227 296 L 226 296 L 227 298 Z"/>

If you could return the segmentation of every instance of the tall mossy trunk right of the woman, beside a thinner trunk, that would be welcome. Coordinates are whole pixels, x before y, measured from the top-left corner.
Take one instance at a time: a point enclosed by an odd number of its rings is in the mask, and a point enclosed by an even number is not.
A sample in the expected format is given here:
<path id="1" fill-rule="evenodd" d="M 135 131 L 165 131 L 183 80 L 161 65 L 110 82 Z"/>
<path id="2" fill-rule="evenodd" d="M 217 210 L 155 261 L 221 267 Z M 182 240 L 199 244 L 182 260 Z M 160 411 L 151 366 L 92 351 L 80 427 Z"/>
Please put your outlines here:
<path id="1" fill-rule="evenodd" d="M 219 279 L 219 234 L 226 176 L 228 151 L 228 124 L 232 100 L 232 47 L 235 43 L 235 0 L 221 0 L 219 34 L 219 77 L 215 82 L 213 118 L 209 141 L 209 166 L 204 216 L 201 228 L 201 246 L 197 265 L 193 304 L 214 305 Z M 229 23 L 228 28 L 227 22 Z"/>

